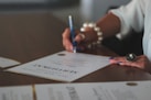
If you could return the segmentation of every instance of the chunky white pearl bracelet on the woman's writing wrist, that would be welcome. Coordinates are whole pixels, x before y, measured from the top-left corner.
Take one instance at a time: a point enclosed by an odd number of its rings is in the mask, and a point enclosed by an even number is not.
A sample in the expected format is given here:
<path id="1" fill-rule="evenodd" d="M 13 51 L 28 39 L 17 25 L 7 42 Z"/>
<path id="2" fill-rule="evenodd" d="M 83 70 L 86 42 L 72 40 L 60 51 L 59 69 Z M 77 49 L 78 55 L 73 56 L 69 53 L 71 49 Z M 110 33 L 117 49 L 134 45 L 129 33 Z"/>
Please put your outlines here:
<path id="1" fill-rule="evenodd" d="M 103 32 L 100 30 L 100 27 L 98 27 L 96 25 L 96 23 L 84 23 L 83 26 L 80 27 L 80 32 L 85 32 L 86 31 L 86 27 L 90 27 L 93 29 L 96 33 L 97 33 L 97 41 L 96 42 L 93 42 L 90 45 L 88 45 L 89 47 L 91 47 L 91 45 L 99 45 L 101 44 L 101 41 L 103 41 Z"/>

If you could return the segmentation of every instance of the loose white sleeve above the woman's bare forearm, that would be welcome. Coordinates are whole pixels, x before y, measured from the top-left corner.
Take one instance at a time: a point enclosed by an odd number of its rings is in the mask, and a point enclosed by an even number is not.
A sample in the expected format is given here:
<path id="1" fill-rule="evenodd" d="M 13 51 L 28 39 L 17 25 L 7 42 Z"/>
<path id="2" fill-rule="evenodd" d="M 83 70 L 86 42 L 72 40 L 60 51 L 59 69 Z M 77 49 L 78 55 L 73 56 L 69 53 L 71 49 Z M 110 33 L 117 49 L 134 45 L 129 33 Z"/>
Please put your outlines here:
<path id="1" fill-rule="evenodd" d="M 144 13 L 143 0 L 131 0 L 127 5 L 121 5 L 119 9 L 110 10 L 115 15 L 120 19 L 120 37 L 130 33 L 131 30 L 140 32 L 143 30 Z"/>

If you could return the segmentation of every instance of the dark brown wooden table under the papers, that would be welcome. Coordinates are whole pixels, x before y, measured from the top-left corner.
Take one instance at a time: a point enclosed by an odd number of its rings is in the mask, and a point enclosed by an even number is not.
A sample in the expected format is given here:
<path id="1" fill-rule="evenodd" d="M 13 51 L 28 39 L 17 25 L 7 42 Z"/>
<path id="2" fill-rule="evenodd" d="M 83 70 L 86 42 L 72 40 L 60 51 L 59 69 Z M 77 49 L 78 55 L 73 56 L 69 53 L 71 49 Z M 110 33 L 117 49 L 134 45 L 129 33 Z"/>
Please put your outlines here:
<path id="1" fill-rule="evenodd" d="M 0 56 L 26 63 L 60 52 L 64 49 L 62 46 L 62 32 L 66 26 L 65 23 L 48 12 L 0 14 Z M 104 46 L 87 53 L 117 56 Z M 0 68 L 0 86 L 61 82 L 3 70 L 4 68 Z M 150 74 L 138 68 L 109 65 L 74 82 L 150 79 Z"/>

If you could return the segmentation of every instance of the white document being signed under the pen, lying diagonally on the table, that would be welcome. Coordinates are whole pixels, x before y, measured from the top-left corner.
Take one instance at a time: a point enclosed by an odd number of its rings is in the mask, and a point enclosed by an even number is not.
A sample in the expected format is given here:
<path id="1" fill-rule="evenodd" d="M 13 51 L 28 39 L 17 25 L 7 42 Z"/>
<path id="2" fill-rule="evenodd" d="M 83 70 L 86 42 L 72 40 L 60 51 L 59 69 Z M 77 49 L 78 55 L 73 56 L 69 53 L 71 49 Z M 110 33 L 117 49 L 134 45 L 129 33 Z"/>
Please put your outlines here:
<path id="1" fill-rule="evenodd" d="M 82 53 L 60 52 L 8 71 L 33 75 L 61 81 L 74 81 L 109 65 L 109 57 Z"/>

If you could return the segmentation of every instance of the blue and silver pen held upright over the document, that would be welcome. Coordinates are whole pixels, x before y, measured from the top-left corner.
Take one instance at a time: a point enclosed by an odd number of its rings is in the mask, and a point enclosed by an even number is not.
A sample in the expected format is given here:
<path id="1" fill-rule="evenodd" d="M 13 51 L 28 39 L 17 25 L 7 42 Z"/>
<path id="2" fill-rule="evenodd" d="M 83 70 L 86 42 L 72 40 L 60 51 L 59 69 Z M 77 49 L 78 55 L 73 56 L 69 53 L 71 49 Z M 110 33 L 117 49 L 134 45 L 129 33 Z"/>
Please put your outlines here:
<path id="1" fill-rule="evenodd" d="M 74 41 L 76 34 L 75 34 L 75 30 L 74 30 L 74 25 L 73 25 L 72 15 L 68 15 L 68 22 L 69 22 L 69 29 L 71 29 L 72 43 L 73 43 L 73 52 L 76 53 L 77 52 L 77 42 Z"/>

